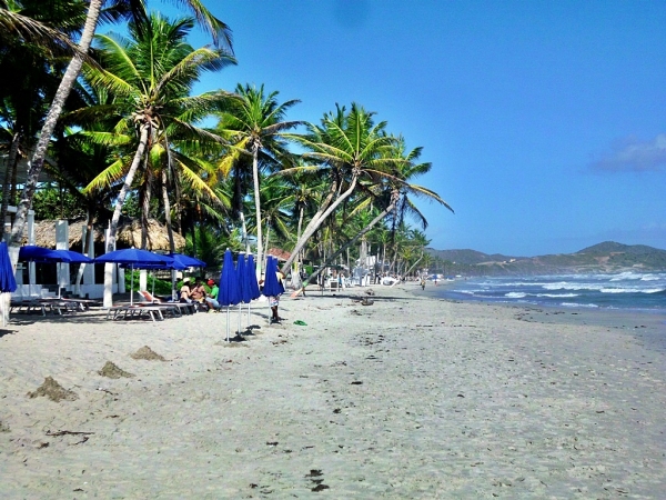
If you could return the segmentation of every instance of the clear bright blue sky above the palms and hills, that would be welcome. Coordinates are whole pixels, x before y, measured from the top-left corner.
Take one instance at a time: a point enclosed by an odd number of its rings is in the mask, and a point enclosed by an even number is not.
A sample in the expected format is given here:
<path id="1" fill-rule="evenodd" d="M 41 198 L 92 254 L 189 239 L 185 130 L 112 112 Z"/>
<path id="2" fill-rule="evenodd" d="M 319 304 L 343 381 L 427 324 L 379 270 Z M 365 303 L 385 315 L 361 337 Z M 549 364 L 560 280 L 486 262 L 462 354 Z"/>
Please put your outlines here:
<path id="1" fill-rule="evenodd" d="M 239 64 L 196 91 L 263 83 L 312 122 L 336 102 L 375 111 L 455 210 L 420 203 L 432 247 L 666 249 L 666 2 L 205 3 Z"/>

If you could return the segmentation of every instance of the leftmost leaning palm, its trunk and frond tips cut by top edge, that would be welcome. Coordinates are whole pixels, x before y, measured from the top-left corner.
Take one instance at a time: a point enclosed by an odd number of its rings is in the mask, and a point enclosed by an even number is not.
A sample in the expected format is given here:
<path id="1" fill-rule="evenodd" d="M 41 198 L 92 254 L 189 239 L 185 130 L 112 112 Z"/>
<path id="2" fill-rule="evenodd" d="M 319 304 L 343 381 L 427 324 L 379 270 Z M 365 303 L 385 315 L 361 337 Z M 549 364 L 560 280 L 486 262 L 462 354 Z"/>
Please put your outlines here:
<path id="1" fill-rule="evenodd" d="M 88 4 L 88 14 L 85 18 L 85 23 L 83 24 L 82 34 L 78 44 L 79 51 L 71 59 L 62 77 L 62 80 L 60 81 L 60 86 L 58 87 L 49 112 L 47 113 L 47 118 L 44 119 L 39 141 L 34 149 L 31 166 L 28 171 L 26 184 L 21 194 L 21 201 L 17 207 L 17 214 L 14 218 L 14 224 L 10 239 L 10 254 L 12 266 L 14 268 L 19 257 L 19 241 L 23 234 L 23 229 L 26 227 L 26 220 L 28 216 L 28 209 L 30 208 L 30 204 L 32 202 L 32 197 L 37 188 L 39 174 L 41 173 L 43 167 L 49 141 L 51 140 L 51 136 L 56 130 L 56 124 L 58 122 L 60 113 L 62 112 L 62 109 L 64 108 L 64 102 L 67 101 L 72 88 L 74 87 L 79 73 L 81 72 L 84 56 L 88 54 L 88 51 L 90 50 L 90 46 L 94 37 L 98 21 L 100 19 L 100 16 L 102 14 L 102 7 L 104 3 L 109 3 L 109 19 L 118 19 L 121 16 L 131 16 L 135 19 L 135 22 L 141 22 L 147 18 L 143 0 L 110 0 L 109 2 L 104 2 L 103 0 L 90 0 Z M 231 50 L 231 32 L 229 30 L 229 27 L 215 17 L 213 17 L 208 11 L 208 9 L 201 3 L 200 0 L 181 0 L 179 3 L 189 7 L 194 12 L 198 21 L 209 32 L 211 32 L 211 34 L 213 36 L 213 40 L 216 44 L 219 44 L 220 47 L 229 47 L 229 49 Z M 1 23 L 11 23 L 13 19 L 14 18 L 11 18 L 9 16 L 7 10 L 0 10 Z"/>

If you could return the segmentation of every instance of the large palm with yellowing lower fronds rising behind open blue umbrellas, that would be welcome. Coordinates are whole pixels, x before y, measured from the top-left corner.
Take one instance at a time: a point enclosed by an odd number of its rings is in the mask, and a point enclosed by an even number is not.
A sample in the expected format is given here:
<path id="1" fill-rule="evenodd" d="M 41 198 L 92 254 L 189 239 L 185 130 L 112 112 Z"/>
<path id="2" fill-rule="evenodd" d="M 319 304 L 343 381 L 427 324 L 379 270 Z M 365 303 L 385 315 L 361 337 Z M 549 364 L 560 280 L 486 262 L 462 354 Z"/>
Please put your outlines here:
<path id="1" fill-rule="evenodd" d="M 169 149 L 169 137 L 186 136 L 191 142 L 220 142 L 220 138 L 192 124 L 209 109 L 219 108 L 225 92 L 190 97 L 189 91 L 203 71 L 219 70 L 233 62 L 220 49 L 194 50 L 185 38 L 194 22 L 185 18 L 169 22 L 151 14 L 147 23 L 131 22 L 130 38 L 100 36 L 101 69 L 87 67 L 90 84 L 103 88 L 113 96 L 102 109 L 81 110 L 82 118 L 103 114 L 115 118 L 112 131 L 90 132 L 100 143 L 119 148 L 131 144 L 131 157 L 120 154 L 87 189 L 108 184 L 123 178 L 111 219 L 107 251 L 114 248 L 115 232 L 124 200 L 132 188 L 141 164 L 159 162 Z M 172 161 L 192 183 L 205 183 L 192 172 L 188 161 L 174 154 Z M 104 272 L 104 304 L 111 303 L 112 264 Z"/>

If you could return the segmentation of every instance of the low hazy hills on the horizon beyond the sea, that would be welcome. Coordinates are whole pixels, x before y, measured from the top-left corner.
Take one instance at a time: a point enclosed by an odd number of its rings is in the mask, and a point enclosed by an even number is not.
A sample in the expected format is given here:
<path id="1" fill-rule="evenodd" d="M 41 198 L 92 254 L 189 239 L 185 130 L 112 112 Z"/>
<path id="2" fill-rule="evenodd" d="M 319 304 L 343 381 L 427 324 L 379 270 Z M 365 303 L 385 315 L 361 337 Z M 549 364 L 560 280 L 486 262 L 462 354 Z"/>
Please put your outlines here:
<path id="1" fill-rule="evenodd" d="M 645 244 L 605 241 L 575 253 L 538 257 L 487 254 L 476 250 L 435 250 L 427 252 L 445 262 L 437 272 L 464 274 L 555 274 L 622 271 L 666 271 L 666 250 Z"/>

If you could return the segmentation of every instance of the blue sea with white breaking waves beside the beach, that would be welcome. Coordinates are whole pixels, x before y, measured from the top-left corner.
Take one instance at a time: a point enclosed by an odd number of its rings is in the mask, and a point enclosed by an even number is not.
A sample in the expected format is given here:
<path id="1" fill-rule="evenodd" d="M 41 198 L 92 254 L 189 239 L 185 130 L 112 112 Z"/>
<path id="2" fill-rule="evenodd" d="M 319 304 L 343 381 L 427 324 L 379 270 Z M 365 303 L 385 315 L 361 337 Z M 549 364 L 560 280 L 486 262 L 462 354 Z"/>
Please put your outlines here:
<path id="1" fill-rule="evenodd" d="M 666 272 L 457 278 L 430 292 L 457 300 L 566 308 L 666 310 Z"/>

